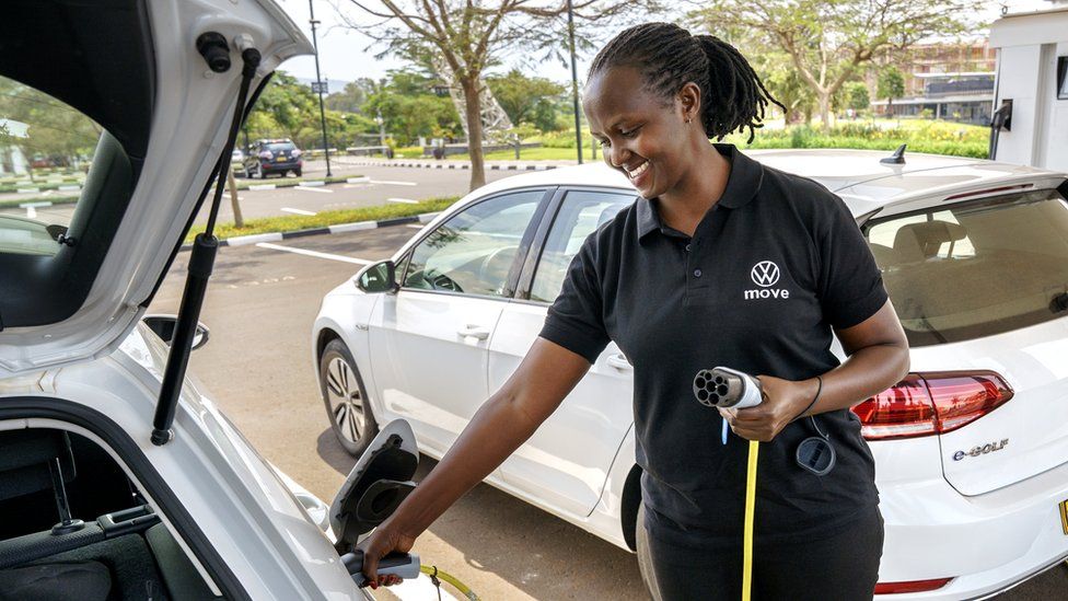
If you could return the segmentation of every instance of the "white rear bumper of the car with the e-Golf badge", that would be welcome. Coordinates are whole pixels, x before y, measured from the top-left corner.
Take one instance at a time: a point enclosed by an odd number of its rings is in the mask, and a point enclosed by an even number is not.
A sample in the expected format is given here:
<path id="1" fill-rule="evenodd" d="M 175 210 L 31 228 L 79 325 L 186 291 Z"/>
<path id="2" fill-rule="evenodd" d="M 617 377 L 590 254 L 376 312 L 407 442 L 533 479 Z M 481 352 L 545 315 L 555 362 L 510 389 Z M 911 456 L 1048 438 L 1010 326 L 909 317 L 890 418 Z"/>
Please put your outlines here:
<path id="1" fill-rule="evenodd" d="M 975 497 L 941 478 L 881 486 L 881 494 L 886 542 L 879 581 L 953 580 L 877 599 L 982 599 L 1068 557 L 1059 511 L 1068 500 L 1068 464 Z"/>

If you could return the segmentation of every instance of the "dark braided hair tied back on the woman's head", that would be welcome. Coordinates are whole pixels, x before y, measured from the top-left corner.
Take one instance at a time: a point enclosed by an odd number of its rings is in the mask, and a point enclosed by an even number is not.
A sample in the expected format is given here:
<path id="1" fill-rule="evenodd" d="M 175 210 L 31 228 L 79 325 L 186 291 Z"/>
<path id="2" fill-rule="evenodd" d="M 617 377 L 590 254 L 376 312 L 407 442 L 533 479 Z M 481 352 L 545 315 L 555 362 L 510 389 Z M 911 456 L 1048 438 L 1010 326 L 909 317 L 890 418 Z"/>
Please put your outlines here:
<path id="1" fill-rule="evenodd" d="M 634 67 L 649 90 L 666 97 L 687 82 L 701 92 L 700 122 L 709 137 L 764 127 L 769 103 L 786 111 L 738 49 L 712 35 L 690 35 L 671 23 L 643 23 L 624 31 L 597 53 L 590 77 L 612 67 Z"/>

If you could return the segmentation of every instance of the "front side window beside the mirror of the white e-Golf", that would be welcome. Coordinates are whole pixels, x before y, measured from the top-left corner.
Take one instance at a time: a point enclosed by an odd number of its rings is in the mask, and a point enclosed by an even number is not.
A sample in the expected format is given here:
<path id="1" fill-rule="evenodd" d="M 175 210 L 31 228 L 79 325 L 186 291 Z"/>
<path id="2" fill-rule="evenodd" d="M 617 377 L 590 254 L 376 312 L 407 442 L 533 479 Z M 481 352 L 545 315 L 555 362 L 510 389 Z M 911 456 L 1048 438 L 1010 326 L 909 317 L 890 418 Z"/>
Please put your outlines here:
<path id="1" fill-rule="evenodd" d="M 499 297 L 543 190 L 479 203 L 438 227 L 411 253 L 404 288 Z"/>

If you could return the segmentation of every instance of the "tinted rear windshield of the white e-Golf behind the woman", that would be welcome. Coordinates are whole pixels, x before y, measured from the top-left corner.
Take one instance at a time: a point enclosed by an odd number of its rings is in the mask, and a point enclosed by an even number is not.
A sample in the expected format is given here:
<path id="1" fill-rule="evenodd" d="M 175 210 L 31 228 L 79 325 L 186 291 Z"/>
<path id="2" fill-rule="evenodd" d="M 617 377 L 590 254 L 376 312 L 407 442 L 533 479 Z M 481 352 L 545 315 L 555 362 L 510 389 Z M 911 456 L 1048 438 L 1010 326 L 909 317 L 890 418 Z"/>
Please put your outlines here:
<path id="1" fill-rule="evenodd" d="M 863 228 L 910 346 L 1068 315 L 1068 204 L 1035 190 Z"/>

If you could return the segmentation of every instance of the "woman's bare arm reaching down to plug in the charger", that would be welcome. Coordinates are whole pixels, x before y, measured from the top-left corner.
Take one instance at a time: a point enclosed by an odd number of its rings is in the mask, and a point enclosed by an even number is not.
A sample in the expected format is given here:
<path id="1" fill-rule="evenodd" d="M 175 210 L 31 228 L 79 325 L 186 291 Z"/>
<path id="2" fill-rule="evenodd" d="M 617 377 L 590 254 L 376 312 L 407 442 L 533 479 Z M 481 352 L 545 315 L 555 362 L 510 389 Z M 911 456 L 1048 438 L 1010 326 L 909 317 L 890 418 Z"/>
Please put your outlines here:
<path id="1" fill-rule="evenodd" d="M 535 339 L 512 377 L 483 404 L 441 462 L 360 545 L 368 582 L 382 583 L 379 559 L 393 551 L 407 553 L 456 499 L 534 434 L 589 369 L 590 362 L 580 355 Z M 385 583 L 393 581 L 383 578 Z"/>

